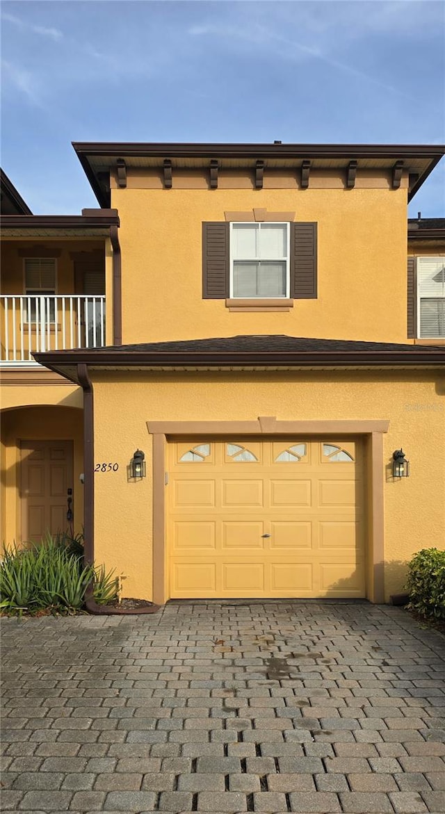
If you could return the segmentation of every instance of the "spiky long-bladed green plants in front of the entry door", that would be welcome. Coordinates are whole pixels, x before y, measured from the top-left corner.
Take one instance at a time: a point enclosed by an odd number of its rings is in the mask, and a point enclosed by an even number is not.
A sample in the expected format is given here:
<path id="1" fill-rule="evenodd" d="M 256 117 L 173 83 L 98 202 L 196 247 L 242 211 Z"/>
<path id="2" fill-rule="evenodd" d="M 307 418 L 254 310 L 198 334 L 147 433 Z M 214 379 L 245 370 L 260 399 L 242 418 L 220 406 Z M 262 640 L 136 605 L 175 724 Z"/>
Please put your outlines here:
<path id="1" fill-rule="evenodd" d="M 36 614 L 43 610 L 70 613 L 85 606 L 85 592 L 93 582 L 96 602 L 117 597 L 113 572 L 85 565 L 81 537 L 46 536 L 28 549 L 4 547 L 0 563 L 0 610 L 7 614 Z"/>

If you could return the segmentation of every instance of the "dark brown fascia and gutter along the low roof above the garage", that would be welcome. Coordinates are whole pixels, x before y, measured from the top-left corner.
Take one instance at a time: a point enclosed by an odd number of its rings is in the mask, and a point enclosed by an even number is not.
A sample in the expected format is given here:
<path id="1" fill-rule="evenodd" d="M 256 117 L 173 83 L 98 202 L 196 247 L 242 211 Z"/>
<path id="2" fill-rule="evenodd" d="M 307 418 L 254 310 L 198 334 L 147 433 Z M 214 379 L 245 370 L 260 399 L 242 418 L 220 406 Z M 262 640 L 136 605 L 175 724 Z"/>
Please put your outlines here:
<path id="1" fill-rule="evenodd" d="M 56 351 L 33 354 L 39 364 L 63 375 L 65 365 L 79 363 L 95 367 L 163 367 L 164 365 L 261 365 L 276 367 L 350 367 L 371 365 L 434 365 L 445 366 L 445 348 L 413 345 L 409 351 L 308 351 L 308 352 L 120 352 L 120 351 Z"/>

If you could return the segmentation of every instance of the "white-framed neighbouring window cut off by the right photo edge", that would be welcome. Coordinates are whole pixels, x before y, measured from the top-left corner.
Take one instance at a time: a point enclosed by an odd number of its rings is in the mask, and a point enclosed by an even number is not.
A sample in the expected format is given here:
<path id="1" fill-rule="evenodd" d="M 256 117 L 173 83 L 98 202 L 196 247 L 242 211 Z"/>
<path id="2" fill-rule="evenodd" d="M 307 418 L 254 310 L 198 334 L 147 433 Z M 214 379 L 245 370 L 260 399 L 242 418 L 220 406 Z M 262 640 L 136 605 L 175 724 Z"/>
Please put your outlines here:
<path id="1" fill-rule="evenodd" d="M 418 336 L 445 337 L 445 257 L 417 258 Z"/>

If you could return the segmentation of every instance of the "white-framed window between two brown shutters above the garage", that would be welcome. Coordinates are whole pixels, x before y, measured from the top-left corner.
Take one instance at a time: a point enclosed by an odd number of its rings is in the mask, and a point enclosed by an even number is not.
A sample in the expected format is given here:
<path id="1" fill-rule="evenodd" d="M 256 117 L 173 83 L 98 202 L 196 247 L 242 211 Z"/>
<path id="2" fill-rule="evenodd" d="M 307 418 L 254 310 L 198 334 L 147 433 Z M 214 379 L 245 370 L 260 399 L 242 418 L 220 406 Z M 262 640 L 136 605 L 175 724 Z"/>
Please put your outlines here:
<path id="1" fill-rule="evenodd" d="M 290 296 L 289 223 L 230 224 L 230 297 Z"/>

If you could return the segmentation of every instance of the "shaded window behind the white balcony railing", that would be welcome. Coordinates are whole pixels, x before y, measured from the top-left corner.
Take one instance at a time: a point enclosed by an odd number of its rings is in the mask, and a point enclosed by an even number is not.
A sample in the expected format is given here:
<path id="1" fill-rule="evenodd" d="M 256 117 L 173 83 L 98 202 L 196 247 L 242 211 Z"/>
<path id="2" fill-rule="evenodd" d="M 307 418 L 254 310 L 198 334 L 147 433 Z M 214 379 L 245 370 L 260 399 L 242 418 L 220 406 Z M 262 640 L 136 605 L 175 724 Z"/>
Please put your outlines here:
<path id="1" fill-rule="evenodd" d="M 50 257 L 27 257 L 24 260 L 24 290 L 28 297 L 25 309 L 26 322 L 36 318 L 55 320 L 55 300 L 41 300 L 41 297 L 55 295 L 55 259 Z"/>

